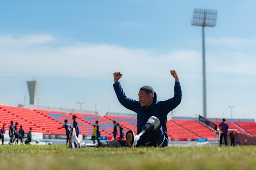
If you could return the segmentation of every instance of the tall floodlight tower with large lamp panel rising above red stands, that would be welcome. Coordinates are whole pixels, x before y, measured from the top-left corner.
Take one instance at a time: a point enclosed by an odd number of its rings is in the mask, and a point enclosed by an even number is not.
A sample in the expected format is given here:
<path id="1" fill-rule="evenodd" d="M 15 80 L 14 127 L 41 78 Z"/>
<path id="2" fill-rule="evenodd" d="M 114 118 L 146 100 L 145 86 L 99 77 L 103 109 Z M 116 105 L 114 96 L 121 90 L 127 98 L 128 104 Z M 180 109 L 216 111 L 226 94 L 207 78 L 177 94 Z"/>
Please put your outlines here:
<path id="1" fill-rule="evenodd" d="M 206 109 L 206 74 L 205 74 L 205 50 L 204 50 L 204 27 L 215 26 L 217 19 L 217 10 L 195 9 L 193 13 L 192 25 L 202 26 L 202 45 L 203 45 L 203 113 L 207 117 Z"/>

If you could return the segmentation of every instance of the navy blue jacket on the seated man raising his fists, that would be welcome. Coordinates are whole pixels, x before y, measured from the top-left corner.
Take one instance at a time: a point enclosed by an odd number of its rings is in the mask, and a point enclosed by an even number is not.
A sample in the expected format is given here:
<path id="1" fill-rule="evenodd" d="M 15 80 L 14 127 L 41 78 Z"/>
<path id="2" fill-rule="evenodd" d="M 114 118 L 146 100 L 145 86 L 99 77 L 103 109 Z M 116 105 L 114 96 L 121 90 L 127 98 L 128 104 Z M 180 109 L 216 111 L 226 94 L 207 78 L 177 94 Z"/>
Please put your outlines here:
<path id="1" fill-rule="evenodd" d="M 139 101 L 126 97 L 120 82 L 115 82 L 113 86 L 119 102 L 124 107 L 137 113 L 137 133 L 139 134 L 141 132 L 141 128 L 146 124 L 151 116 L 155 116 L 160 120 L 160 124 L 162 126 L 161 129 L 166 140 L 164 142 L 164 146 L 168 146 L 168 135 L 166 128 L 167 114 L 176 108 L 181 102 L 182 91 L 180 82 L 175 82 L 173 98 L 165 101 L 157 101 L 157 95 L 155 93 L 153 98 L 154 102 L 148 107 L 141 107 Z M 144 144 L 146 144 L 150 140 L 148 139 L 148 135 L 149 134 L 144 134 L 141 136 L 139 141 L 142 141 Z"/>

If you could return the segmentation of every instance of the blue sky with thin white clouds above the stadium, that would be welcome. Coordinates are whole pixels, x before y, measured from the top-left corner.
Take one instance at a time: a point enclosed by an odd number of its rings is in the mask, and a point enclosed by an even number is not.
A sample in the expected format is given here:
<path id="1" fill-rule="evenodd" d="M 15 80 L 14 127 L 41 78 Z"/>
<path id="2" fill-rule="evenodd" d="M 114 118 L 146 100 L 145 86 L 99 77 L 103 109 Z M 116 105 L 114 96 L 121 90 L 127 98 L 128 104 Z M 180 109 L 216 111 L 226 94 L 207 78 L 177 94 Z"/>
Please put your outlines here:
<path id="1" fill-rule="evenodd" d="M 176 69 L 182 103 L 176 116 L 202 115 L 202 28 L 194 8 L 218 10 L 205 29 L 207 115 L 253 118 L 256 96 L 256 2 L 204 0 L 2 1 L 0 101 L 28 104 L 27 80 L 40 82 L 39 105 L 132 113 L 112 88 L 112 73 L 137 99 L 150 85 L 158 100 L 173 96 Z"/>

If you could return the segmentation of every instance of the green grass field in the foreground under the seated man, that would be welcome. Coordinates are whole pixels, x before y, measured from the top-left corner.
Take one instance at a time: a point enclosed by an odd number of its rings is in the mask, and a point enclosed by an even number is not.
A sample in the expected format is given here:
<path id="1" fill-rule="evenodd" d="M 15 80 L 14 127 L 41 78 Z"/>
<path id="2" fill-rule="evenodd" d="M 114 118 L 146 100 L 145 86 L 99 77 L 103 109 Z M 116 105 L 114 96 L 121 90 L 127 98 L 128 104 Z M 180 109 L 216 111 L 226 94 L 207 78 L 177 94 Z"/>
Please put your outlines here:
<path id="1" fill-rule="evenodd" d="M 0 170 L 256 170 L 256 146 L 82 148 L 0 146 Z"/>

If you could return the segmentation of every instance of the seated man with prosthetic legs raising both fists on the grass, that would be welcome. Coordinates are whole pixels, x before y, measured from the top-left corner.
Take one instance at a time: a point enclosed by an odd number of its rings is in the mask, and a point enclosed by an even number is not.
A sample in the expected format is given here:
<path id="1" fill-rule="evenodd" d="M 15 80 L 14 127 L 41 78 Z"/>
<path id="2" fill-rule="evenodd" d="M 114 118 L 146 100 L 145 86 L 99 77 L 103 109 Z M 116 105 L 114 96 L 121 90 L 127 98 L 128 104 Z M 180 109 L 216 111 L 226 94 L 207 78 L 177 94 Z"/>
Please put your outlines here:
<path id="1" fill-rule="evenodd" d="M 105 143 L 100 142 L 97 146 L 107 146 L 107 147 L 139 147 L 139 146 L 149 146 L 149 147 L 165 147 L 168 146 L 168 135 L 167 135 L 167 115 L 174 108 L 176 108 L 182 99 L 182 91 L 179 82 L 179 77 L 176 70 L 170 71 L 171 75 L 175 79 L 174 84 L 174 96 L 165 101 L 157 101 L 157 95 L 150 86 L 143 86 L 139 89 L 138 97 L 139 100 L 134 100 L 128 98 L 119 79 L 122 77 L 121 72 L 115 72 L 114 75 L 114 90 L 117 95 L 117 99 L 125 108 L 137 113 L 137 134 L 132 130 L 128 130 L 126 133 L 126 141 L 106 141 Z M 71 132 L 71 131 L 70 131 Z M 72 133 L 74 130 L 72 131 Z M 84 148 L 90 146 L 82 143 L 75 135 L 70 134 L 72 141 L 76 143 L 73 144 L 72 148 Z"/>

